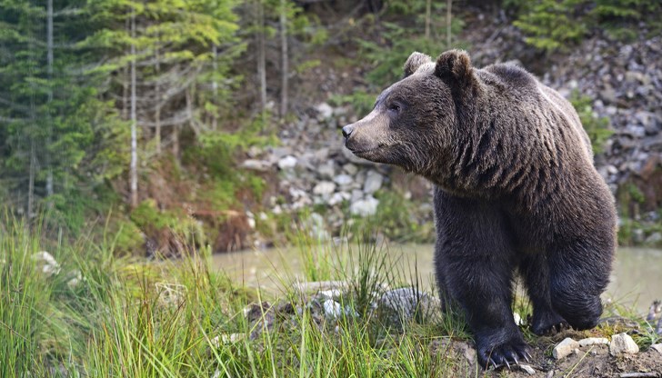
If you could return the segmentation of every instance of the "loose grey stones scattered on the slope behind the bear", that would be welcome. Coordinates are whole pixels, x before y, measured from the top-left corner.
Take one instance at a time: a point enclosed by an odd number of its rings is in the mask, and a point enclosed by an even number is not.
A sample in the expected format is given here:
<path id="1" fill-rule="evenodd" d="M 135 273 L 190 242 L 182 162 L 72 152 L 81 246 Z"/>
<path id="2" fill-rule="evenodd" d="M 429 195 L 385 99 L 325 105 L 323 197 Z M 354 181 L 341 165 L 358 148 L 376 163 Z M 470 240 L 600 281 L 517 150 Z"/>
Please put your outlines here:
<path id="1" fill-rule="evenodd" d="M 478 14 L 466 30 L 463 38 L 472 46 L 469 52 L 476 65 L 516 60 L 568 98 L 574 92 L 590 97 L 593 115 L 607 117 L 613 131 L 604 152 L 596 156 L 598 171 L 625 203 L 627 215 L 657 222 L 662 207 L 662 37 L 647 37 L 643 31 L 636 41 L 624 43 L 597 32 L 567 55 L 545 58 L 536 55 L 517 28 L 503 19 Z M 346 82 L 348 75 L 360 73 L 326 67 L 316 74 L 326 83 L 326 79 Z M 360 77 L 354 82 L 361 83 Z M 376 214 L 379 201 L 374 194 L 390 187 L 397 170 L 356 159 L 343 148 L 339 128 L 357 115 L 363 114 L 326 102 L 312 104 L 281 129 L 281 146 L 251 152 L 242 166 L 280 171 L 276 192 L 286 201 L 277 204 L 272 198 L 271 211 L 321 206 L 326 211 L 324 217 L 317 216 L 317 224 L 326 224 L 332 232 L 346 221 L 346 209 L 358 216 Z M 426 202 L 429 184 L 416 181 L 403 192 L 406 196 L 414 192 Z M 428 209 L 422 210 L 419 216 L 426 219 L 419 221 L 429 221 Z M 662 234 L 639 233 L 639 239 L 656 244 Z"/>

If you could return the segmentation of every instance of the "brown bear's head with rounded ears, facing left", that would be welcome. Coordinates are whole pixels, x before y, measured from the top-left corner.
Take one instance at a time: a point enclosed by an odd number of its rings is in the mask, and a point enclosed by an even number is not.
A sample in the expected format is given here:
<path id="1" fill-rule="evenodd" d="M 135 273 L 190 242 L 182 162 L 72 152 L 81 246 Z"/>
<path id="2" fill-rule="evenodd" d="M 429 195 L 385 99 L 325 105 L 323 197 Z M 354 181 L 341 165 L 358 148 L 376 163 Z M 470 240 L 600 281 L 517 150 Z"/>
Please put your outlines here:
<path id="1" fill-rule="evenodd" d="M 359 157 L 430 177 L 452 156 L 461 132 L 457 112 L 467 109 L 476 79 L 460 50 L 436 62 L 414 53 L 404 70 L 402 80 L 379 94 L 370 114 L 343 127 L 345 145 Z"/>

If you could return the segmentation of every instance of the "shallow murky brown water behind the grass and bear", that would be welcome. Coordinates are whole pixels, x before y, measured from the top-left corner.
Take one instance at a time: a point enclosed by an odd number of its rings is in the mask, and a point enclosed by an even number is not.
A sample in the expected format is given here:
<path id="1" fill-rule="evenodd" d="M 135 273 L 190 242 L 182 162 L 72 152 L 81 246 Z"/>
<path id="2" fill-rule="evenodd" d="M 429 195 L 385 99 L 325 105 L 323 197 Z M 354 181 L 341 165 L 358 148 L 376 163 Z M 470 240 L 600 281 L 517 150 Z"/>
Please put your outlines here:
<path id="1" fill-rule="evenodd" d="M 429 288 L 434 283 L 433 248 L 433 244 L 391 244 L 382 253 L 396 262 L 404 281 L 411 280 L 416 263 L 419 282 Z M 296 248 L 215 254 L 212 261 L 236 281 L 266 290 L 282 290 L 303 276 L 302 255 Z M 634 305 L 639 313 L 647 313 L 653 300 L 662 299 L 662 250 L 618 249 L 604 298 Z"/>

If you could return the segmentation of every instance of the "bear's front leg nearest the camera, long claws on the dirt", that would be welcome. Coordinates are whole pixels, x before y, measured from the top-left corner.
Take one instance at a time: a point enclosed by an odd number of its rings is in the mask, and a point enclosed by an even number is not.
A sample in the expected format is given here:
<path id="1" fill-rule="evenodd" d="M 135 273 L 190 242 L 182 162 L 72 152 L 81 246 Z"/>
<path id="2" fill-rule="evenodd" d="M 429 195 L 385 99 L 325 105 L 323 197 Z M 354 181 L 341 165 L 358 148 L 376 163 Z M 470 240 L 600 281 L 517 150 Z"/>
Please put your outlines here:
<path id="1" fill-rule="evenodd" d="M 509 365 L 529 349 L 510 310 L 517 265 L 504 214 L 493 204 L 435 192 L 435 263 L 441 293 L 466 313 L 478 363 Z"/>

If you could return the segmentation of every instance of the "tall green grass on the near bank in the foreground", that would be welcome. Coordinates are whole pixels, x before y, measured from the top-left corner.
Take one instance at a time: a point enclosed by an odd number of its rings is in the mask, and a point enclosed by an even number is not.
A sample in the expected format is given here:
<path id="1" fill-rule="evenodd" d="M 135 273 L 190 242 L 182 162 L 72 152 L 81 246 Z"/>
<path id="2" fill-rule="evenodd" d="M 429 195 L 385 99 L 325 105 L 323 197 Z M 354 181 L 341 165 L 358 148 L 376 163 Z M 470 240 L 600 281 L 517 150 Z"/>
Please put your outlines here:
<path id="1" fill-rule="evenodd" d="M 372 298 L 387 287 L 417 282 L 415 267 L 395 269 L 374 244 L 338 250 L 300 237 L 304 278 L 345 283 L 336 299 L 341 311 L 328 317 L 324 301 L 296 290 L 286 274 L 276 277 L 284 289 L 277 297 L 261 293 L 210 269 L 205 250 L 156 263 L 116 256 L 110 235 L 102 244 L 70 244 L 16 222 L 1 230 L 2 377 L 483 373 L 466 358 L 470 335 L 456 313 L 416 313 L 415 322 L 396 325 L 373 311 Z M 514 310 L 525 319 L 530 312 L 522 301 Z M 649 324 L 634 322 L 641 347 L 657 341 Z M 611 335 L 619 327 L 605 323 L 586 334 Z M 523 330 L 539 358 L 548 358 L 555 340 Z"/>

